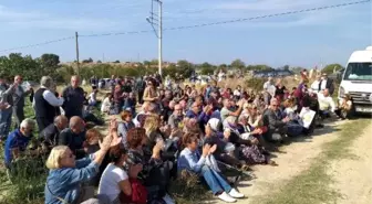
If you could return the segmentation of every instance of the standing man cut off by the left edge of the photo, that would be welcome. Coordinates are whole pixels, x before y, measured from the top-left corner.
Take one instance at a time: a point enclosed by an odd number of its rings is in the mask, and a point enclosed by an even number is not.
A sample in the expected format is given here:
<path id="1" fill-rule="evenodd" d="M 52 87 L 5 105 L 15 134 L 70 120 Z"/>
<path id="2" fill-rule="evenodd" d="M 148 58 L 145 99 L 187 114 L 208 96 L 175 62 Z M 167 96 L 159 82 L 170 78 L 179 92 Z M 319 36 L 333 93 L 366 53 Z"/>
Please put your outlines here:
<path id="1" fill-rule="evenodd" d="M 0 103 L 4 106 L 3 109 L 0 109 L 0 140 L 8 137 L 9 133 L 13 110 L 12 95 L 16 90 L 16 86 L 17 84 L 13 84 L 9 87 L 4 79 L 0 77 Z"/>

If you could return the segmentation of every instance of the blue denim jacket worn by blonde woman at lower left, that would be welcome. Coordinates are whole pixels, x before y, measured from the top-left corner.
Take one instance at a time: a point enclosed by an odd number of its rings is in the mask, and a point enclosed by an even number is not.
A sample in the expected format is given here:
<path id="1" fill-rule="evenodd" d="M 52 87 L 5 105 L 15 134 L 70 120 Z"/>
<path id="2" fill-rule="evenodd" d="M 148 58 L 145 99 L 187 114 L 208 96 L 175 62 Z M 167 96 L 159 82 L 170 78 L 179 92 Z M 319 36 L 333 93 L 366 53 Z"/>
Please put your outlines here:
<path id="1" fill-rule="evenodd" d="M 93 179 L 100 165 L 84 158 L 76 161 L 76 168 L 50 170 L 45 184 L 45 204 L 64 204 L 76 202 L 80 195 L 80 185 Z"/>

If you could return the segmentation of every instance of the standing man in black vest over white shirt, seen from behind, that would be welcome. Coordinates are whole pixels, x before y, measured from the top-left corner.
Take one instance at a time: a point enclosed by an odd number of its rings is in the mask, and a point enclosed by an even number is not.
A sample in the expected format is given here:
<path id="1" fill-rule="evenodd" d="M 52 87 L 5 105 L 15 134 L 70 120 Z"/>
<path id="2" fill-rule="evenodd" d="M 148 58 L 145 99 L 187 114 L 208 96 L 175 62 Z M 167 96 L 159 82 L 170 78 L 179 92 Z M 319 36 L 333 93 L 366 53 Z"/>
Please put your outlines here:
<path id="1" fill-rule="evenodd" d="M 40 88 L 35 92 L 33 98 L 33 108 L 37 116 L 39 132 L 53 124 L 54 117 L 60 114 L 59 108 L 63 103 L 63 98 L 55 96 L 52 77 L 41 77 Z"/>

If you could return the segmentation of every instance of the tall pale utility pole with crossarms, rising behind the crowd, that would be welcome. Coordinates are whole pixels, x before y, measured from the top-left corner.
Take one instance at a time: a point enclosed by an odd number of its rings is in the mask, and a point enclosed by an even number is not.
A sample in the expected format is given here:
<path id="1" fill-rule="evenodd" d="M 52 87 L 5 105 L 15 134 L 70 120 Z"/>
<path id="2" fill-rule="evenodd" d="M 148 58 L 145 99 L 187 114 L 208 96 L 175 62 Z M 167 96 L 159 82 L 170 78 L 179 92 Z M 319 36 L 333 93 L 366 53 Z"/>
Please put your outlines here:
<path id="1" fill-rule="evenodd" d="M 157 14 L 155 13 L 154 2 L 157 3 Z M 151 17 L 147 17 L 147 22 L 153 26 L 155 35 L 158 40 L 158 74 L 163 75 L 163 2 L 161 0 L 152 0 Z M 157 25 L 157 29 L 155 28 Z"/>

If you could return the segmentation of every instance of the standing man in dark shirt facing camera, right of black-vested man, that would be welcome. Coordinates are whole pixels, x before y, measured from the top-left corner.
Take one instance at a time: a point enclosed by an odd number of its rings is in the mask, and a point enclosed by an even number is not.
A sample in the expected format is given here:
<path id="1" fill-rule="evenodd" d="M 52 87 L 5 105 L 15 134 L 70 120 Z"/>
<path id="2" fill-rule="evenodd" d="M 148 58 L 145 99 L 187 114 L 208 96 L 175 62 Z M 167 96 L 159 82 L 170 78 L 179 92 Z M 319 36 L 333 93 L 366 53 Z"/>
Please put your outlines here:
<path id="1" fill-rule="evenodd" d="M 70 119 L 73 116 L 83 117 L 84 107 L 84 89 L 79 86 L 79 76 L 71 77 L 71 85 L 68 86 L 62 94 L 64 98 L 63 110 L 64 115 Z"/>

